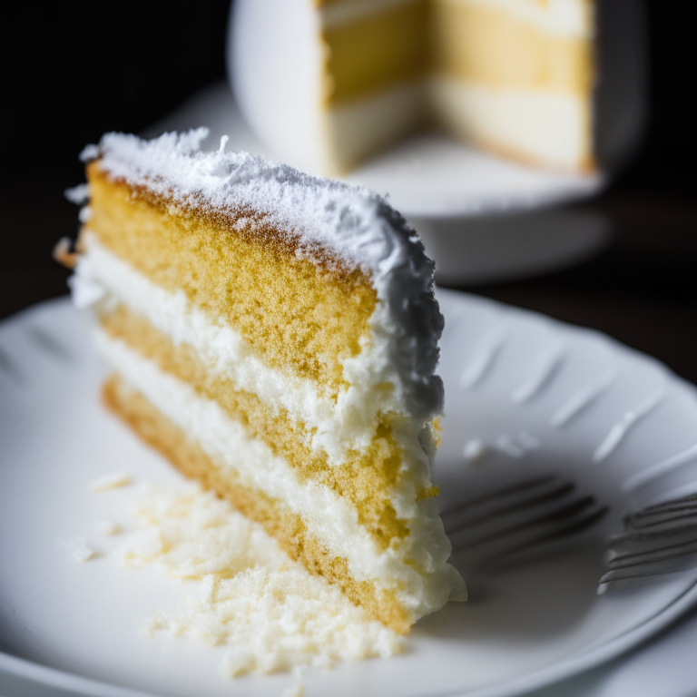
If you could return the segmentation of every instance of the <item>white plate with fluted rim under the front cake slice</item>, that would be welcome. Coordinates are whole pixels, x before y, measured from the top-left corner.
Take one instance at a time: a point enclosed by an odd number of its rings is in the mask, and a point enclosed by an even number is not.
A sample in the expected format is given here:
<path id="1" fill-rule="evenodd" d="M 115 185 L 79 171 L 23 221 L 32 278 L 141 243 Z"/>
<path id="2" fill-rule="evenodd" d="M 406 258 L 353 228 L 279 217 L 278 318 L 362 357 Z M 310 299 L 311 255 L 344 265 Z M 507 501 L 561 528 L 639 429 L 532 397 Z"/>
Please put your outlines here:
<path id="1" fill-rule="evenodd" d="M 631 495 L 622 490 L 633 473 L 694 453 L 691 385 L 594 332 L 472 296 L 439 297 L 447 418 L 437 475 L 446 499 L 502 476 L 553 470 L 611 503 L 612 526 L 625 508 L 697 489 L 695 453 Z M 219 650 L 139 636 L 148 617 L 178 602 L 181 584 L 108 558 L 78 564 L 61 542 L 90 538 L 104 518 L 129 520 L 133 492 L 90 494 L 98 476 L 127 470 L 150 481 L 178 479 L 103 412 L 102 375 L 85 322 L 65 299 L 0 326 L 0 669 L 110 697 L 280 694 L 288 675 L 231 684 L 218 677 Z M 606 387 L 569 416 L 570 400 L 595 380 Z M 560 414 L 568 418 L 555 426 Z M 463 447 L 475 438 L 489 451 L 469 463 Z M 695 574 L 598 596 L 601 568 L 601 547 L 591 539 L 472 584 L 469 603 L 417 624 L 409 653 L 309 671 L 306 693 L 513 695 L 607 661 L 697 600 Z"/>

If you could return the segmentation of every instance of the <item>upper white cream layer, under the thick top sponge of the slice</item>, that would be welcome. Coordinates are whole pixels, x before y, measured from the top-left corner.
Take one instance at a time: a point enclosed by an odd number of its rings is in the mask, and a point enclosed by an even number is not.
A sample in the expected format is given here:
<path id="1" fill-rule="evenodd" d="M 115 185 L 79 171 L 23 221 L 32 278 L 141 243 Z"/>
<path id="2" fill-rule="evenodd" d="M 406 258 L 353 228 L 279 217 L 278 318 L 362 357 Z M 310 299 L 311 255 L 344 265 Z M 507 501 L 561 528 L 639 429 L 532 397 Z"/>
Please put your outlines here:
<path id="1" fill-rule="evenodd" d="M 74 297 L 97 298 L 103 289 L 108 301 L 123 302 L 148 319 L 155 329 L 178 346 L 188 344 L 214 373 L 230 378 L 237 389 L 255 393 L 271 409 L 286 409 L 291 418 L 309 429 L 309 446 L 322 448 L 331 461 L 341 462 L 348 447 L 361 450 L 372 441 L 379 413 L 404 415 L 404 386 L 391 359 L 388 332 L 376 329 L 363 341 L 356 358 L 344 361 L 344 377 L 350 387 L 336 403 L 321 397 L 308 379 L 293 376 L 265 365 L 250 344 L 221 319 L 217 323 L 194 307 L 182 292 L 170 292 L 152 283 L 139 271 L 119 259 L 96 236 L 83 231 L 85 254 L 78 262 L 72 283 Z M 380 309 L 371 322 L 384 326 L 387 309 Z M 385 386 L 391 386 L 386 389 Z M 412 433 L 422 424 L 415 423 Z M 413 447 L 400 443 L 407 452 Z M 417 486 L 428 486 L 428 464 L 418 466 Z M 417 470 L 418 471 L 418 470 Z"/>

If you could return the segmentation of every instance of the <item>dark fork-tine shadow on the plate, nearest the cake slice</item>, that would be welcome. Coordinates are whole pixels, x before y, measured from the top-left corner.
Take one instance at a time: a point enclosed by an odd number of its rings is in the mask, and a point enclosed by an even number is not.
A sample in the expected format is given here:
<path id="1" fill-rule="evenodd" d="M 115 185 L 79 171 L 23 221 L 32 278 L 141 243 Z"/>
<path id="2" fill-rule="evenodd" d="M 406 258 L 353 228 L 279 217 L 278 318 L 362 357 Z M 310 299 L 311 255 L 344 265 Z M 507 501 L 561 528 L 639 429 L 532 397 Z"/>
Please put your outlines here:
<path id="1" fill-rule="evenodd" d="M 608 512 L 594 496 L 555 475 L 536 476 L 441 513 L 465 572 L 496 570 L 550 554 Z M 460 553 L 462 553 L 460 555 Z"/>

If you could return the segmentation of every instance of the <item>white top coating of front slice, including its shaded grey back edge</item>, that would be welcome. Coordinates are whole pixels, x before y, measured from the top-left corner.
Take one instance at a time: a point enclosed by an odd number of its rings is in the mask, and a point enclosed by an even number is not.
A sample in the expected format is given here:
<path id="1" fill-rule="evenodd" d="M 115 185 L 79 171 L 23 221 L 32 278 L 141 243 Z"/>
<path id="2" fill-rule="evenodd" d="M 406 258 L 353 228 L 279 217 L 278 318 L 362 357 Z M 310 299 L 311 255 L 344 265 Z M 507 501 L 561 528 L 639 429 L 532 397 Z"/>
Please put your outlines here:
<path id="1" fill-rule="evenodd" d="M 374 329 L 390 337 L 408 412 L 439 416 L 443 384 L 434 373 L 444 319 L 434 295 L 435 264 L 417 232 L 375 191 L 226 152 L 225 138 L 218 151 L 203 152 L 208 134 L 198 128 L 145 141 L 106 133 L 81 158 L 156 205 L 207 215 L 231 230 L 245 224 L 260 236 L 271 228 L 295 256 L 330 272 L 360 270 L 380 301 Z M 255 224 L 259 216 L 262 225 Z"/>

